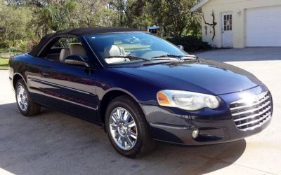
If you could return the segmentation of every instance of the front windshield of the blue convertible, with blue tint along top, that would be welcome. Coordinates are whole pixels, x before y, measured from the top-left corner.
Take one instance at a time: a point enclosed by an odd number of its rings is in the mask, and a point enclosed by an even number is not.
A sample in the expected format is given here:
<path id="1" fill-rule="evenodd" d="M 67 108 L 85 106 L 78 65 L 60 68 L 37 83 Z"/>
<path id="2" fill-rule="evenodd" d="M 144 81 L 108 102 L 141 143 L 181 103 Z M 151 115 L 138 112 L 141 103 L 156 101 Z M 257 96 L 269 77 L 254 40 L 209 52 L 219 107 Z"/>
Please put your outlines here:
<path id="1" fill-rule="evenodd" d="M 188 55 L 176 45 L 147 32 L 91 34 L 85 37 L 99 59 L 107 64 L 151 61 L 164 55 Z"/>

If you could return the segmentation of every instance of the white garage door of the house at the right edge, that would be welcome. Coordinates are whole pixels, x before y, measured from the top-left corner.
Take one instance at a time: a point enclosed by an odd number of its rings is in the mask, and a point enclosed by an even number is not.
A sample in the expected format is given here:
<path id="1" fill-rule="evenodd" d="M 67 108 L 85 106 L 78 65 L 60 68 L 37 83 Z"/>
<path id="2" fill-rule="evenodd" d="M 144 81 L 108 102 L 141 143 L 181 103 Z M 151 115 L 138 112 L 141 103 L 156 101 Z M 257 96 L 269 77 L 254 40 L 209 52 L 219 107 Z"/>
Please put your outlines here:
<path id="1" fill-rule="evenodd" d="M 247 9 L 246 29 L 248 47 L 281 46 L 281 6 Z"/>

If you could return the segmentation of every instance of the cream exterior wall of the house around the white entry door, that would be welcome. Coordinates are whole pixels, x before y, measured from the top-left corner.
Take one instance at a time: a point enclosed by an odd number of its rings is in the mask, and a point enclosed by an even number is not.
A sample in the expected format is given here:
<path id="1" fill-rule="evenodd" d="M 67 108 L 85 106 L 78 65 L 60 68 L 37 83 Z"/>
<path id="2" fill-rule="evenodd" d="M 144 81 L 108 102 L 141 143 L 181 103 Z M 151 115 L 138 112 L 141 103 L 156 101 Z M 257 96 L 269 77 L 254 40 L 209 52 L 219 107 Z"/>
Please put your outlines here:
<path id="1" fill-rule="evenodd" d="M 202 14 L 206 22 L 211 23 L 211 13 L 214 12 L 216 36 L 212 40 L 213 29 L 209 25 L 205 25 L 202 20 L 202 38 L 211 45 L 221 48 L 222 41 L 222 21 L 221 13 L 233 12 L 233 47 L 244 48 L 246 46 L 246 10 L 247 8 L 258 8 L 263 6 L 281 5 L 281 0 L 210 0 L 202 6 Z M 207 35 L 205 34 L 205 26 L 207 26 Z"/>

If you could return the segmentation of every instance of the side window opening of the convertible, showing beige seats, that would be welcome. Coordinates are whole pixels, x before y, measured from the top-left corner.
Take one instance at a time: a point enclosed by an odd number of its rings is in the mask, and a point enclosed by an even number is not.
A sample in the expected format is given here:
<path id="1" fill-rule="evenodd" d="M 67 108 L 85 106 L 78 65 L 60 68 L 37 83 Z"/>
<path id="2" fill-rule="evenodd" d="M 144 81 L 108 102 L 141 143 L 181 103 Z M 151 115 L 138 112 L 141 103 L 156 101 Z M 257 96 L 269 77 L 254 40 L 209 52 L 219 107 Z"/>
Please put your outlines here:
<path id="1" fill-rule="evenodd" d="M 68 55 L 80 55 L 86 57 L 86 51 L 77 37 L 55 38 L 41 53 L 44 57 L 55 62 L 65 62 Z"/>

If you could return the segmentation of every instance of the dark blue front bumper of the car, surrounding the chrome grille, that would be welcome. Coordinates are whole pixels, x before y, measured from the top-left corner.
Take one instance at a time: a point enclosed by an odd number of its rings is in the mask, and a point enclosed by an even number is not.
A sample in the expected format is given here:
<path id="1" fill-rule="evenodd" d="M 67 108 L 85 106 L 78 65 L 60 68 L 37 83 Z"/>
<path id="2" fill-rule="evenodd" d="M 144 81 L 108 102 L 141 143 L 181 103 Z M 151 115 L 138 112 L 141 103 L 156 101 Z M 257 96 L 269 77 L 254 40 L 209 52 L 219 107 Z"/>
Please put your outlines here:
<path id="1" fill-rule="evenodd" d="M 146 104 L 141 104 L 141 106 L 155 140 L 185 145 L 219 144 L 257 134 L 269 125 L 271 115 L 258 127 L 251 130 L 240 130 L 235 125 L 230 112 L 230 104 L 240 100 L 241 93 L 261 94 L 266 91 L 268 88 L 265 85 L 260 85 L 243 92 L 223 94 L 219 96 L 223 102 L 218 109 L 202 109 L 192 113 L 162 106 Z M 200 131 L 195 139 L 192 137 L 194 130 Z"/>

